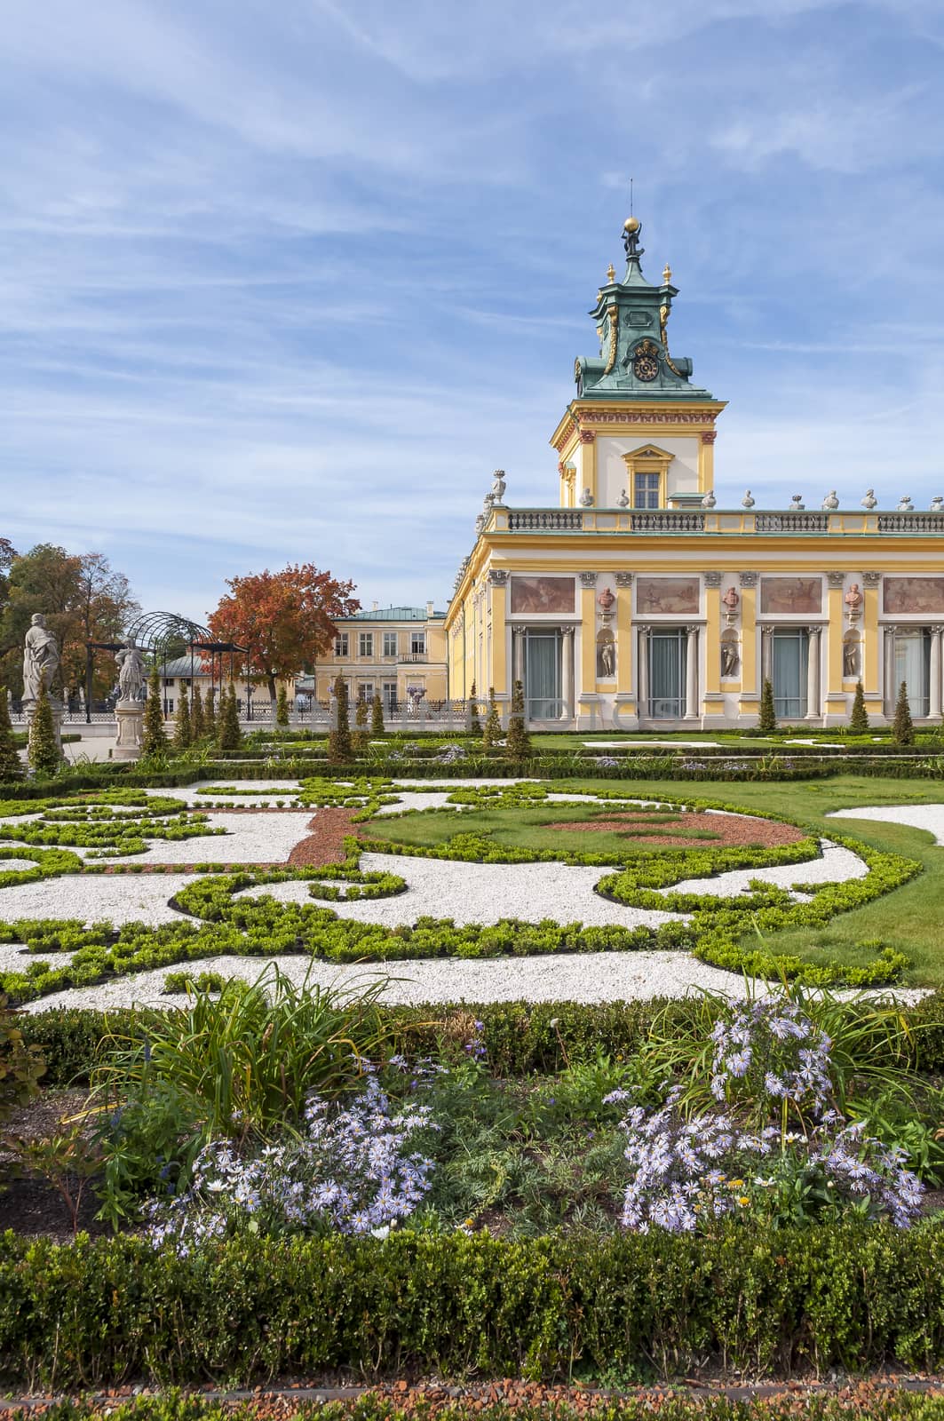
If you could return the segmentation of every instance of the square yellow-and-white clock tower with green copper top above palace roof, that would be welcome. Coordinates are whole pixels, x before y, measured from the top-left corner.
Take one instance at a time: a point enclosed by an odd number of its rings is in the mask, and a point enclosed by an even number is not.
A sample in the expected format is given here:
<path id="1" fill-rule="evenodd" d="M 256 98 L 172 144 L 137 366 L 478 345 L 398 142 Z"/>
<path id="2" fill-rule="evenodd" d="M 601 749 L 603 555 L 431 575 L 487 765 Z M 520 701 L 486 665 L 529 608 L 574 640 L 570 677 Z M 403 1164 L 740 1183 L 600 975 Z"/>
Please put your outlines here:
<path id="1" fill-rule="evenodd" d="M 563 507 L 692 507 L 711 497 L 715 418 L 725 408 L 691 384 L 692 362 L 672 355 L 668 318 L 678 296 L 643 276 L 643 225 L 623 225 L 626 270 L 613 266 L 590 311 L 597 357 L 574 365 L 576 398 L 552 438 Z"/>

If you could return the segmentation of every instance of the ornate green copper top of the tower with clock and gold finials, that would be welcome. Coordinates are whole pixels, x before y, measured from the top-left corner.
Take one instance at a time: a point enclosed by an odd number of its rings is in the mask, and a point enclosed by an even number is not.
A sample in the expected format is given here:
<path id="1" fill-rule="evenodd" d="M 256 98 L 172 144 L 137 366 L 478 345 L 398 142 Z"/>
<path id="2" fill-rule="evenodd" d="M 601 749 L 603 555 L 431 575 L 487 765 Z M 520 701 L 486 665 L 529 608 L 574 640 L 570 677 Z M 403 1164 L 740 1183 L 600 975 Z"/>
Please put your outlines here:
<path id="1" fill-rule="evenodd" d="M 643 276 L 641 232 L 638 217 L 627 217 L 623 223 L 626 271 L 617 281 L 610 267 L 610 280 L 597 293 L 597 304 L 590 311 L 597 323 L 600 355 L 577 360 L 577 398 L 712 399 L 709 391 L 690 385 L 691 360 L 670 354 L 665 327 L 678 290 L 671 284 L 668 267 L 661 286 L 653 286 Z"/>

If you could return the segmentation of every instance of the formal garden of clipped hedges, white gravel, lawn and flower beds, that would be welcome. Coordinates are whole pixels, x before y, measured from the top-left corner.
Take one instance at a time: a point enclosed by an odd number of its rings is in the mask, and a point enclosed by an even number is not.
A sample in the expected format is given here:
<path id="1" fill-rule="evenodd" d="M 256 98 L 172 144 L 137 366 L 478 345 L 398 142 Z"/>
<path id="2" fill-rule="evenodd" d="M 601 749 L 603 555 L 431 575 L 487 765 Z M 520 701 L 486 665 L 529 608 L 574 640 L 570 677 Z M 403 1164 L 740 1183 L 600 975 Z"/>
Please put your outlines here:
<path id="1" fill-rule="evenodd" d="M 431 749 L 10 787 L 6 1374 L 944 1364 L 924 764 Z"/>

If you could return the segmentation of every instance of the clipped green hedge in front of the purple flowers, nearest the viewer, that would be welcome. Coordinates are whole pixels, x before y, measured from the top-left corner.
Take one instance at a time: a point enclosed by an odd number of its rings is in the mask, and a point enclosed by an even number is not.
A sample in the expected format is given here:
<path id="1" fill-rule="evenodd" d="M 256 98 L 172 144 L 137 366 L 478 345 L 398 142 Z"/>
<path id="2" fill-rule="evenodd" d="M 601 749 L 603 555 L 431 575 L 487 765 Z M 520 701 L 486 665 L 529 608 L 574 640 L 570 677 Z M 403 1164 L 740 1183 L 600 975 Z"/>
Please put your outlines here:
<path id="1" fill-rule="evenodd" d="M 0 1373 L 30 1388 L 324 1371 L 788 1376 L 944 1364 L 944 1229 L 717 1238 L 461 1232 L 229 1241 L 0 1239 Z"/>

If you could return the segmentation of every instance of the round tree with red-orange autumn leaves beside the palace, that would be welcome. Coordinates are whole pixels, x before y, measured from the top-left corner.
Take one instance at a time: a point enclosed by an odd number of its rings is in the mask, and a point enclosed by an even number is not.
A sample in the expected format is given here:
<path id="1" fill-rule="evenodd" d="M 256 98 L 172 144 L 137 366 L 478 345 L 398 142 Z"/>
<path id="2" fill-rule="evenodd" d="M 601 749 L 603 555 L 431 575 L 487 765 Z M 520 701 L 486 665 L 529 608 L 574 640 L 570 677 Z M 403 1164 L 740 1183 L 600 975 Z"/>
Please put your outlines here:
<path id="1" fill-rule="evenodd" d="M 361 605 L 351 597 L 354 583 L 340 583 L 313 563 L 227 578 L 226 585 L 230 595 L 212 612 L 210 631 L 246 648 L 249 671 L 267 684 L 273 705 L 276 681 L 297 676 L 323 655 L 336 635 L 334 618 Z"/>

